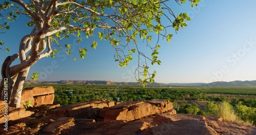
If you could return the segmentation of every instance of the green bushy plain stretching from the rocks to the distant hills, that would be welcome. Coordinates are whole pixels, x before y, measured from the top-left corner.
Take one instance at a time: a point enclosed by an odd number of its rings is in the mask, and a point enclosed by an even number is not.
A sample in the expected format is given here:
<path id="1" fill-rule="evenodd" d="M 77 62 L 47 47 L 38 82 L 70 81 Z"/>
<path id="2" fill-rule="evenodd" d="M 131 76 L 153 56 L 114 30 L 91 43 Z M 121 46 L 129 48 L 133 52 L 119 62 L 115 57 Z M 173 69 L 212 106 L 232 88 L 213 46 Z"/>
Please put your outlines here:
<path id="1" fill-rule="evenodd" d="M 53 86 L 55 104 L 108 99 L 145 101 L 168 99 L 177 113 L 222 117 L 224 121 L 256 125 L 256 87 L 151 85 L 30 84 Z M 232 118 L 232 119 L 231 119 Z"/>

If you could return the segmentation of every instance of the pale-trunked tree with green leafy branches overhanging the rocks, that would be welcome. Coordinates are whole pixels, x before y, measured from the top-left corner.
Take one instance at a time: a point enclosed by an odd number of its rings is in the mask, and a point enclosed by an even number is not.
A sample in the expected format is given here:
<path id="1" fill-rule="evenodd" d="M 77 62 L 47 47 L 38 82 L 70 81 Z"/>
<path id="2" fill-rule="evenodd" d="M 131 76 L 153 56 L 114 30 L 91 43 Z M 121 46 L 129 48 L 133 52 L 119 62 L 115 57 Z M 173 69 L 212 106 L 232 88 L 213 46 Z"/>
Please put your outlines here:
<path id="1" fill-rule="evenodd" d="M 191 6 L 200 0 L 189 0 Z M 143 86 L 147 82 L 154 82 L 156 71 L 148 71 L 148 61 L 151 64 L 160 64 L 157 54 L 160 48 L 158 42 L 150 44 L 152 35 L 155 33 L 160 40 L 172 39 L 173 34 L 167 32 L 174 28 L 178 31 L 180 27 L 186 27 L 186 20 L 190 20 L 186 13 L 177 16 L 168 6 L 167 1 L 160 0 L 9 0 L 0 5 L 1 9 L 7 11 L 7 19 L 15 19 L 16 14 L 26 15 L 30 21 L 28 27 L 33 30 L 25 35 L 19 44 L 19 51 L 8 56 L 2 66 L 1 100 L 5 100 L 8 92 L 8 103 L 10 106 L 19 107 L 23 84 L 27 78 L 29 69 L 38 60 L 44 57 L 55 57 L 64 48 L 71 55 L 72 44 L 60 44 L 70 36 L 77 39 L 80 58 L 84 58 L 87 48 L 81 46 L 81 36 L 88 38 L 87 44 L 92 48 L 97 47 L 97 42 L 92 37 L 100 40 L 109 40 L 115 49 L 115 61 L 119 66 L 126 66 L 132 60 L 132 55 L 138 55 L 138 67 L 135 72 L 136 80 Z M 178 1 L 178 4 L 186 0 Z M 162 22 L 164 19 L 165 23 Z M 5 22 L 4 22 L 5 24 Z M 165 24 L 165 25 L 164 25 Z M 167 24 L 167 25 L 166 25 Z M 9 29 L 9 27 L 6 29 Z M 138 40 L 150 48 L 152 56 L 146 56 L 140 50 Z M 8 51 L 8 50 L 7 50 Z M 18 59 L 19 64 L 10 66 Z M 144 61 L 144 65 L 140 61 Z M 8 89 L 5 80 L 8 80 Z M 6 81 L 7 82 L 7 81 Z"/>

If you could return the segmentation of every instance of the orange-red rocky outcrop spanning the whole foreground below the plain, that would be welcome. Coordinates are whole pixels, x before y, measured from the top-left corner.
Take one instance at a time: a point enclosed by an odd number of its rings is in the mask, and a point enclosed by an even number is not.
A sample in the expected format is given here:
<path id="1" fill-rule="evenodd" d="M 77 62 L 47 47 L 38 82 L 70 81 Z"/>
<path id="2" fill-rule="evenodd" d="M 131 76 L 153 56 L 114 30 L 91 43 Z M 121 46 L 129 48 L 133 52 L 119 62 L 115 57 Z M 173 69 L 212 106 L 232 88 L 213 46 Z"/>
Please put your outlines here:
<path id="1" fill-rule="evenodd" d="M 7 117 L 4 106 L 0 102 L 0 134 L 256 134 L 255 126 L 176 114 L 173 104 L 162 99 L 38 105 L 27 111 L 8 107 Z"/>

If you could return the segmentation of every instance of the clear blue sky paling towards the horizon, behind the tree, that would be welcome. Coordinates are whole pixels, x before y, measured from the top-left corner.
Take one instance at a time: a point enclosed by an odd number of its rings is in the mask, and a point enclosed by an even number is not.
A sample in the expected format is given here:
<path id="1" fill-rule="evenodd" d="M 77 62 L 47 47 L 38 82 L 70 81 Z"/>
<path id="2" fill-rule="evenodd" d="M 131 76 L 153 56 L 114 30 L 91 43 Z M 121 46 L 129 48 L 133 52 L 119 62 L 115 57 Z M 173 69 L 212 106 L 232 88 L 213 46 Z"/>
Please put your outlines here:
<path id="1" fill-rule="evenodd" d="M 187 12 L 191 21 L 188 27 L 174 34 L 170 43 L 166 39 L 160 41 L 162 63 L 150 68 L 157 71 L 156 82 L 256 80 L 256 1 L 204 0 L 196 8 L 175 3 L 170 3 L 170 7 L 176 14 Z M 20 39 L 30 33 L 26 22 L 26 17 L 18 16 L 16 21 L 9 23 L 11 30 L 0 35 L 10 49 L 8 53 L 0 52 L 1 63 L 6 56 L 18 52 Z M 76 44 L 72 38 L 70 43 Z M 78 48 L 74 46 L 72 50 Z M 109 41 L 99 41 L 96 50 L 88 46 L 85 59 L 74 61 L 60 53 L 55 59 L 39 60 L 30 69 L 28 79 L 33 72 L 38 72 L 40 80 L 45 81 L 136 81 L 136 59 L 126 68 L 119 68 L 118 62 L 114 62 L 114 54 Z"/>

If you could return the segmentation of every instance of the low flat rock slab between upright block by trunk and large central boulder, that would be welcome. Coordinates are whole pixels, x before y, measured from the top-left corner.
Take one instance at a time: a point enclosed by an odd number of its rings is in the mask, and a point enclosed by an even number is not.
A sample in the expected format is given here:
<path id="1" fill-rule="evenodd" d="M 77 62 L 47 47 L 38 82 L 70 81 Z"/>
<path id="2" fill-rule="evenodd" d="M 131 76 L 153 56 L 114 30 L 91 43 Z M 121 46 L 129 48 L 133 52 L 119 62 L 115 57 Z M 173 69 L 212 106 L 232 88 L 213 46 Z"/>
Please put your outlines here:
<path id="1" fill-rule="evenodd" d="M 47 111 L 48 116 L 63 116 L 74 118 L 97 118 L 103 107 L 114 106 L 115 103 L 109 100 L 95 100 L 89 102 L 79 102 L 66 106 L 61 106 Z"/>

